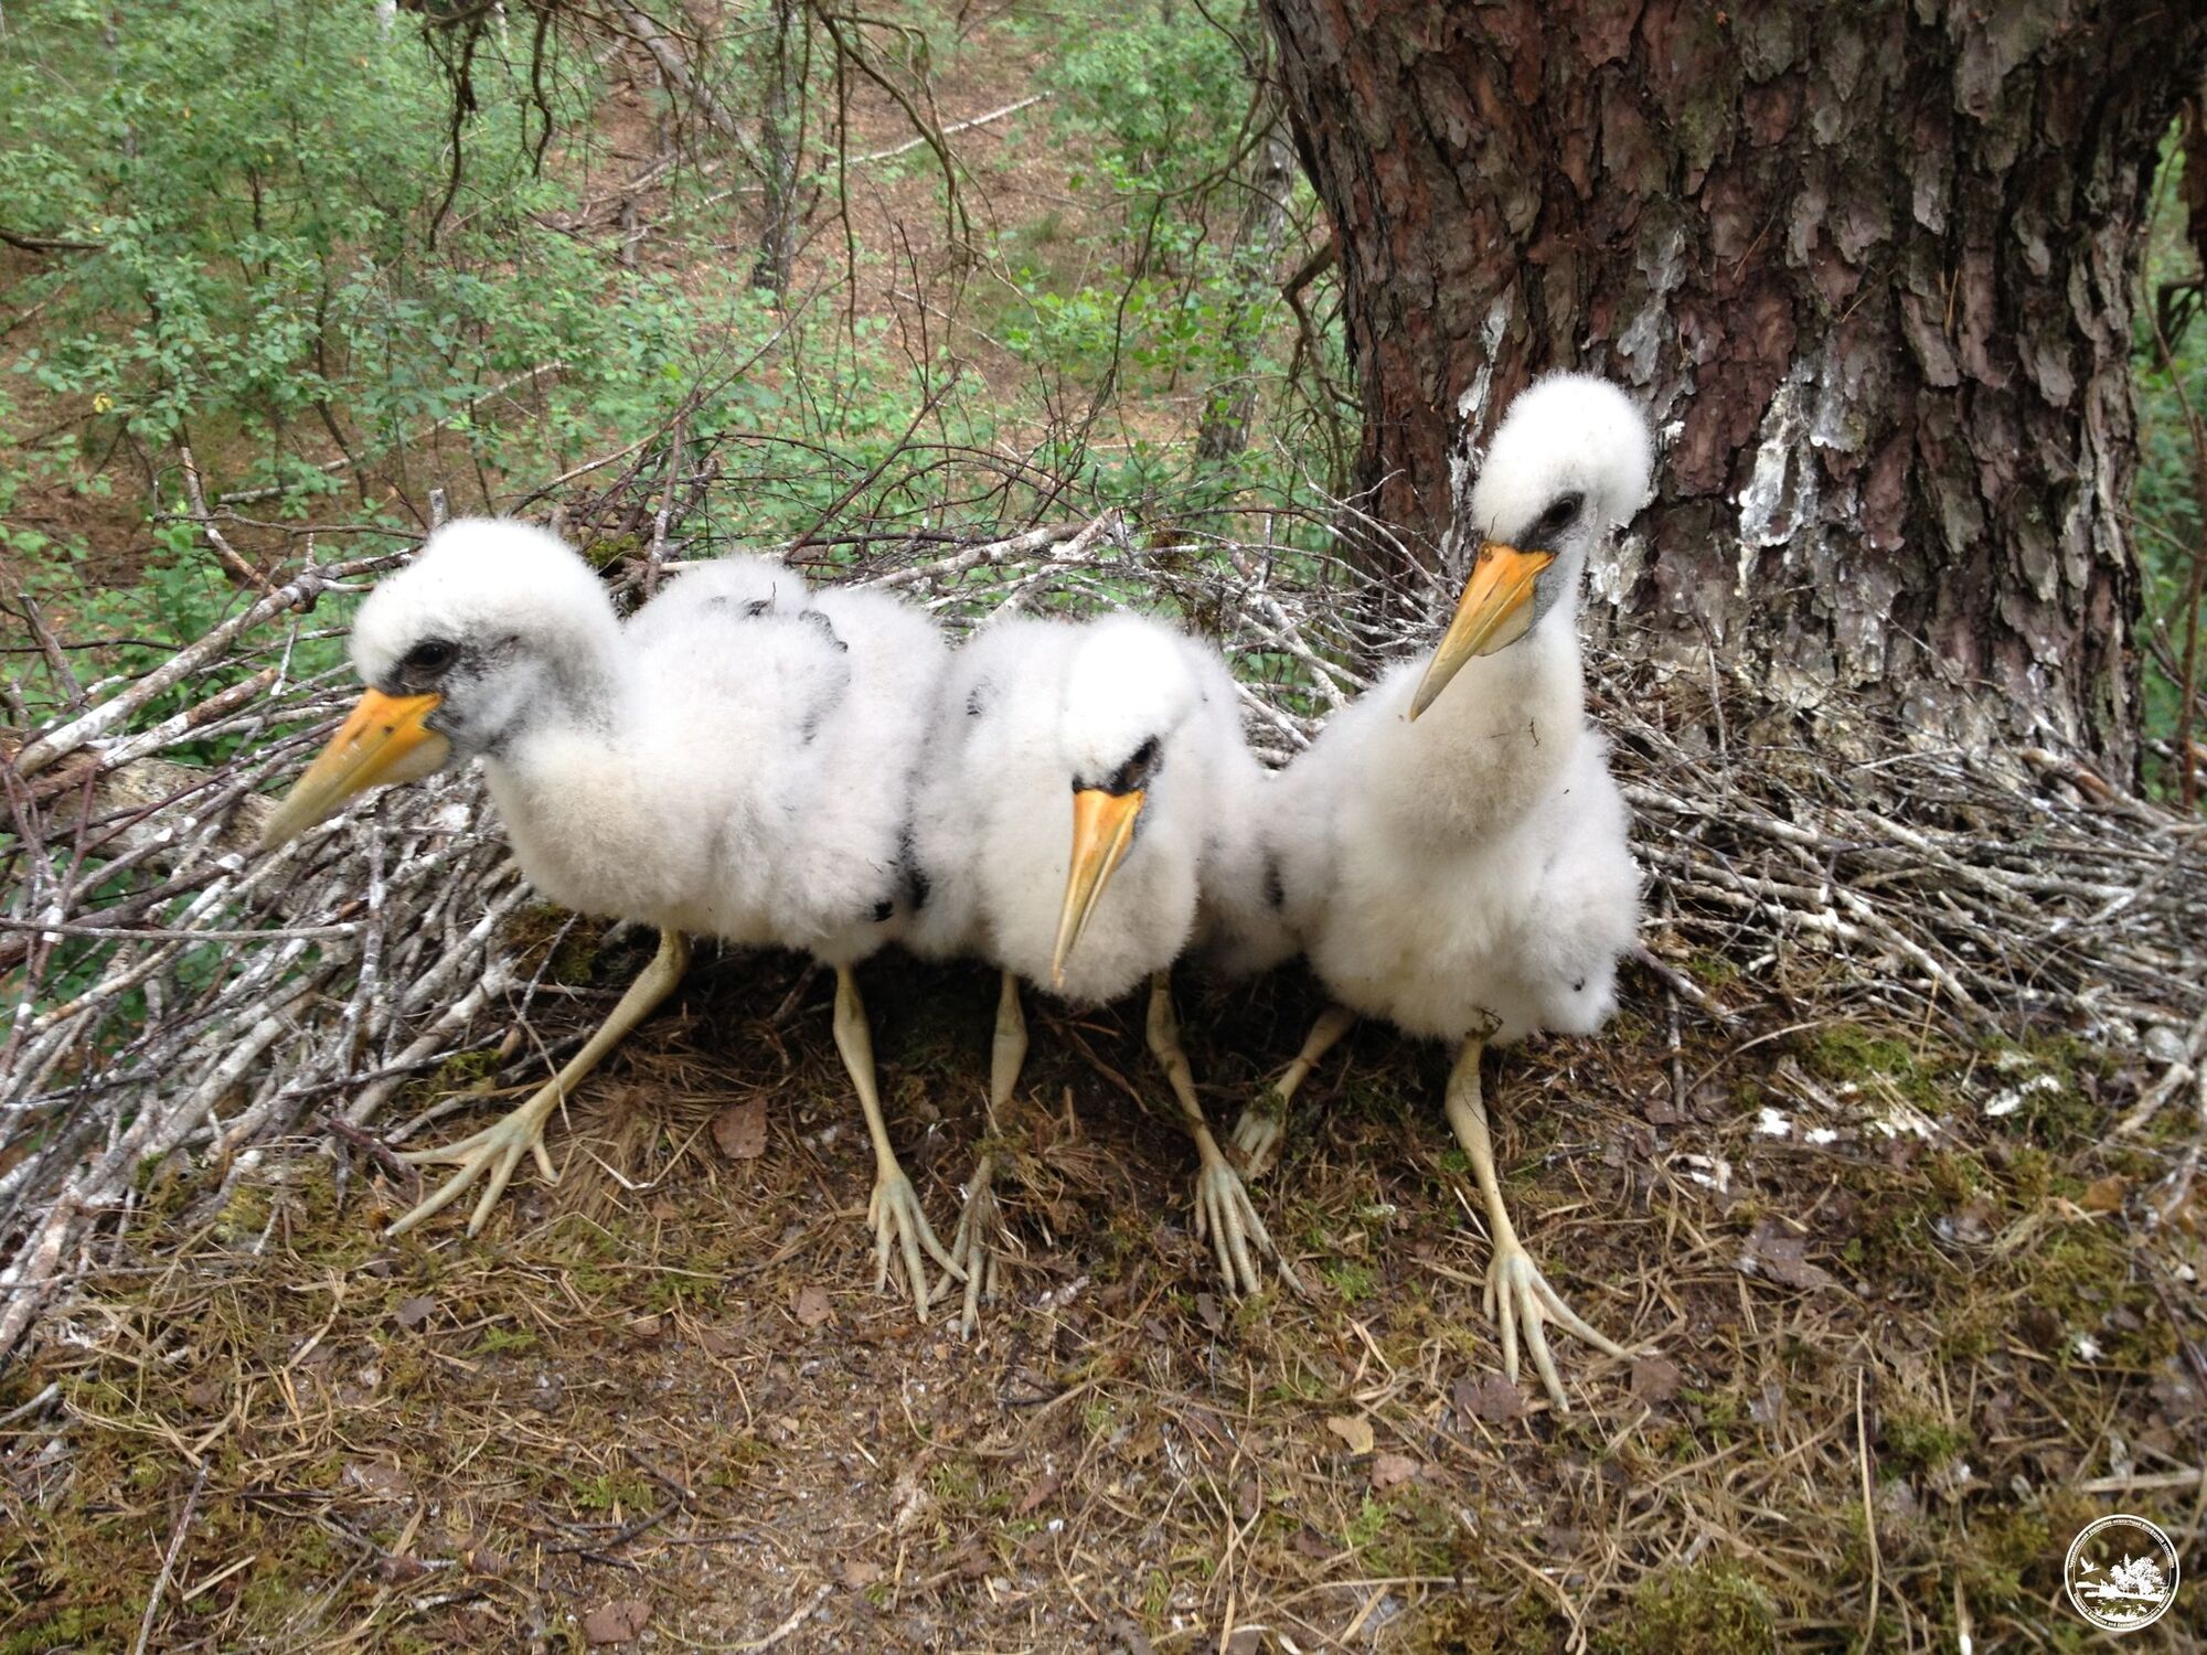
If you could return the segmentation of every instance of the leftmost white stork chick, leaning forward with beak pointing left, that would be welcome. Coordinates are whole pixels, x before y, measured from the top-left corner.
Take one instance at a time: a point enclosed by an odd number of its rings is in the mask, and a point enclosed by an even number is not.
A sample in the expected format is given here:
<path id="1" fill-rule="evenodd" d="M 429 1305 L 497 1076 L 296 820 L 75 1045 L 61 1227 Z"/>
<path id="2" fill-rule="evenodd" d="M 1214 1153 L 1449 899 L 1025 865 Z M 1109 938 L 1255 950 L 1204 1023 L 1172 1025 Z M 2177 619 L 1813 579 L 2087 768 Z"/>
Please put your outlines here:
<path id="1" fill-rule="evenodd" d="M 408 1154 L 457 1163 L 404 1234 L 477 1178 L 477 1234 L 523 1154 L 554 1181 L 552 1110 L 658 1006 L 686 936 L 779 944 L 834 967 L 834 1035 L 874 1141 L 876 1284 L 900 1251 L 953 1267 L 889 1147 L 852 967 L 909 911 L 903 836 L 940 631 L 887 596 L 812 596 L 790 569 L 724 558 L 622 624 L 556 536 L 475 519 L 437 530 L 353 624 L 369 684 L 267 825 L 276 847 L 369 788 L 481 759 L 514 856 L 550 900 L 660 931 L 660 951 L 589 1044 L 481 1132 Z"/>

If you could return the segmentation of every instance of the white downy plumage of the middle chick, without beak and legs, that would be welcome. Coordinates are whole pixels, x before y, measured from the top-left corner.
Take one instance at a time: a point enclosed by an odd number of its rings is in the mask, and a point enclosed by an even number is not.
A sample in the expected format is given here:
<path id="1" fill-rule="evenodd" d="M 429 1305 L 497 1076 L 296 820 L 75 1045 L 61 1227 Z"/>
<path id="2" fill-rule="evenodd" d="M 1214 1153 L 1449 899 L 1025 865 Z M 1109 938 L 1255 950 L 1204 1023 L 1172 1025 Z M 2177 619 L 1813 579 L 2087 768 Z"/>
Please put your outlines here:
<path id="1" fill-rule="evenodd" d="M 1101 783 L 1150 737 L 1161 759 L 1134 841 L 1057 989 L 1073 788 Z M 1293 944 L 1256 832 L 1269 786 L 1212 647 L 1134 613 L 998 622 L 942 677 L 914 816 L 927 900 L 907 942 L 978 955 L 1075 1004 L 1119 1000 L 1187 949 L 1236 971 L 1276 964 Z"/>

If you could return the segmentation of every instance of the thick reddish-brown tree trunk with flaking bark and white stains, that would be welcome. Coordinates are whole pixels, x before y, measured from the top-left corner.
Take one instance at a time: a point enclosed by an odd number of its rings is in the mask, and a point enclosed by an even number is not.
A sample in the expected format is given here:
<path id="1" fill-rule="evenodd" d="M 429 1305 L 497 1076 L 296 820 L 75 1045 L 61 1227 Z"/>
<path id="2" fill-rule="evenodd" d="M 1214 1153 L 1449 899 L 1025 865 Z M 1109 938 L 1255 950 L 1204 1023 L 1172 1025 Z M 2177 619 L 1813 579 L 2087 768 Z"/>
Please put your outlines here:
<path id="1" fill-rule="evenodd" d="M 1662 466 L 1596 633 L 2134 775 L 2130 307 L 2207 11 L 1262 9 L 1384 523 L 1439 541 L 1454 433 L 1545 369 L 1607 373 Z"/>

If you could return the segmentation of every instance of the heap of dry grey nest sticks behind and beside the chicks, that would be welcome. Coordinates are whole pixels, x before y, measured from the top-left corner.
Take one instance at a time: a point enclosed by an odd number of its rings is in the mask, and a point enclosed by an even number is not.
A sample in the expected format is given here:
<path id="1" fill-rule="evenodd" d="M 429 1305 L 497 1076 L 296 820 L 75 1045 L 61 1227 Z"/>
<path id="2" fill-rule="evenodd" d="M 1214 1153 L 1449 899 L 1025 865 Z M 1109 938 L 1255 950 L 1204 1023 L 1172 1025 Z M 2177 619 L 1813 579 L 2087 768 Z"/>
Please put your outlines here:
<path id="1" fill-rule="evenodd" d="M 622 600 L 658 567 L 682 567 L 684 519 L 708 481 L 684 470 L 684 448 L 638 444 L 620 481 L 561 508 L 649 543 L 620 576 Z M 351 695 L 340 675 L 298 682 L 263 662 L 318 594 L 391 563 L 294 572 L 0 759 L 0 971 L 13 989 L 0 1353 L 130 1211 L 148 1156 L 234 1172 L 276 1139 L 353 1141 L 399 1088 L 463 1050 L 519 1053 L 508 1079 L 534 1072 L 519 1031 L 539 973 L 512 925 L 530 891 L 477 777 L 395 790 L 274 856 L 254 847 L 263 797 Z M 1326 558 L 1117 510 L 1011 532 L 823 532 L 806 563 L 956 629 L 1011 607 L 1092 611 L 1141 594 L 1236 658 L 1273 761 L 1419 642 L 1371 620 L 1412 605 L 1366 602 Z M 2130 1130 L 2207 1086 L 2196 819 L 2053 752 L 1997 764 L 1878 746 L 1869 724 L 1874 764 L 1834 775 L 1788 744 L 1783 713 L 1752 691 L 1616 655 L 1589 675 L 1651 911 L 1664 916 L 1651 958 L 1666 1004 L 1684 995 L 1717 1015 L 1675 964 L 1721 955 L 1777 982 L 1838 980 L 1969 1037 L 2059 1028 L 2134 1053 Z M 185 711 L 143 722 L 196 684 L 207 688 Z M 212 737 L 236 746 L 218 766 L 168 757 Z"/>

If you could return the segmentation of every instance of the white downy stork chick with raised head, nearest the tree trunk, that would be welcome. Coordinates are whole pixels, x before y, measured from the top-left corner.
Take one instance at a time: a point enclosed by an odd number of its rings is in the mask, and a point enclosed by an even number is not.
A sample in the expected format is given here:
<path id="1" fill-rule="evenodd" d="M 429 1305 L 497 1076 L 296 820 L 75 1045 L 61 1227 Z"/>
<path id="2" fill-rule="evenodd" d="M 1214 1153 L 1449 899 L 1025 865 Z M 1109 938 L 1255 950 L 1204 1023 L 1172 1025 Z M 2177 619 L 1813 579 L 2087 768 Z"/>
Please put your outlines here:
<path id="1" fill-rule="evenodd" d="M 1518 1242 L 1479 1059 L 1543 1028 L 1593 1033 L 1616 1006 L 1640 874 L 1607 744 L 1585 715 L 1578 589 L 1589 549 L 1646 499 L 1651 463 L 1646 419 L 1602 380 L 1552 375 L 1510 406 L 1457 519 L 1476 554 L 1448 633 L 1282 775 L 1289 922 L 1340 1004 L 1234 1132 L 1262 1163 L 1296 1086 L 1357 1015 L 1461 1042 L 1446 1110 L 1492 1227 L 1485 1309 L 1510 1377 L 1523 1331 L 1558 1410 L 1545 1322 L 1624 1350 Z"/>

